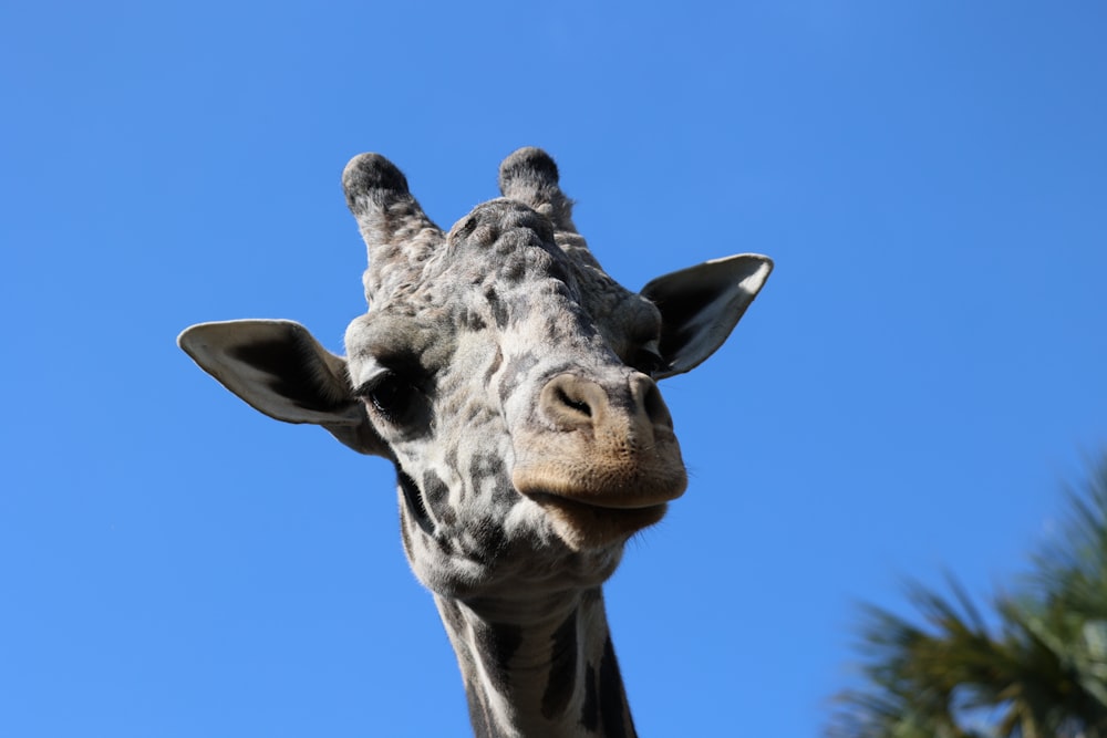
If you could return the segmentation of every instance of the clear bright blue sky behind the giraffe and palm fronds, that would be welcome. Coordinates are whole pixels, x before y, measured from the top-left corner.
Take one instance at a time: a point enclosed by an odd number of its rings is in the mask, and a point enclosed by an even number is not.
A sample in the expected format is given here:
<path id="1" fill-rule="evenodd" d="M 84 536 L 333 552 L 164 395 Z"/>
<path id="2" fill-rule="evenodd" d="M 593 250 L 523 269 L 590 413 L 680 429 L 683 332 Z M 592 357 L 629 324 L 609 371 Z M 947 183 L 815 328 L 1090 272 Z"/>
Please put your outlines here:
<path id="1" fill-rule="evenodd" d="M 453 736 L 393 478 L 175 344 L 363 311 L 339 175 L 521 145 L 637 289 L 759 251 L 608 588 L 643 736 L 816 735 L 856 603 L 1010 581 L 1107 445 L 1099 2 L 8 2 L 0 735 Z"/>

